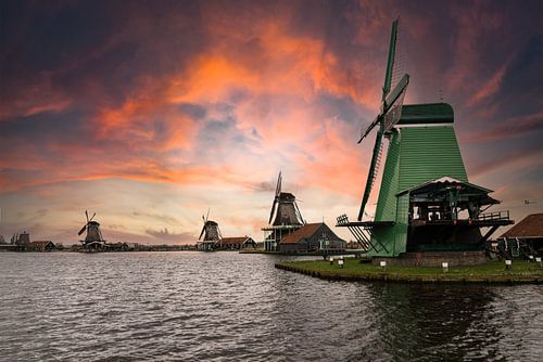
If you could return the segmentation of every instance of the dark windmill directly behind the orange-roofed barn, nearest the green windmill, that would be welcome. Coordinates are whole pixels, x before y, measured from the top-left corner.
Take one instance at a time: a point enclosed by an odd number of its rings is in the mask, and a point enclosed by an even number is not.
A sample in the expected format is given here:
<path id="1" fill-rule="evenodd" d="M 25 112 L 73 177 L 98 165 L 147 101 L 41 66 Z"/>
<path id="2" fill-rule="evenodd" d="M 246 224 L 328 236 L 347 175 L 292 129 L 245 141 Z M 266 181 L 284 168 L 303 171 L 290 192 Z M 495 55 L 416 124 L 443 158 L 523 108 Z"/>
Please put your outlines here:
<path id="1" fill-rule="evenodd" d="M 282 174 L 279 172 L 275 197 L 269 212 L 268 227 L 263 228 L 264 247 L 266 251 L 275 251 L 283 236 L 305 224 L 298 208 L 296 197 L 290 192 L 281 191 Z"/>

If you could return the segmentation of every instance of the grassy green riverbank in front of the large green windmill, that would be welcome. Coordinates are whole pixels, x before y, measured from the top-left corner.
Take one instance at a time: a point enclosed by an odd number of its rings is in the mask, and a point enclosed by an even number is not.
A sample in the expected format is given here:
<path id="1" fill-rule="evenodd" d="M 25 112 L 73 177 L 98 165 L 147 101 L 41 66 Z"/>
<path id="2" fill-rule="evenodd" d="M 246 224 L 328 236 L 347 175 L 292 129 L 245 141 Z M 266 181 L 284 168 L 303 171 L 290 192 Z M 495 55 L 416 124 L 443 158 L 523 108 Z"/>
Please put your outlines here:
<path id="1" fill-rule="evenodd" d="M 535 263 L 515 260 L 509 270 L 503 261 L 489 261 L 481 266 L 441 268 L 386 267 L 361 263 L 358 259 L 344 259 L 343 268 L 337 261 L 303 260 L 276 263 L 277 269 L 334 281 L 387 281 L 401 283 L 485 283 L 541 284 L 543 268 Z"/>

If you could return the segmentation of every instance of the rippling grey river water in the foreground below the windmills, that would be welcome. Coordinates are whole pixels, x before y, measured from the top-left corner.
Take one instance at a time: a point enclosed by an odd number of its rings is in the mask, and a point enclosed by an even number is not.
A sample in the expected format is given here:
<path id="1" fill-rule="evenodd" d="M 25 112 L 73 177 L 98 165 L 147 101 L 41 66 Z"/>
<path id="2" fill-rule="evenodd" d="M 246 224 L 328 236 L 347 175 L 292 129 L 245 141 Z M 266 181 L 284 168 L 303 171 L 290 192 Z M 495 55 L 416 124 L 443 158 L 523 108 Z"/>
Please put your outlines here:
<path id="1" fill-rule="evenodd" d="M 541 360 L 543 286 L 328 282 L 278 260 L 2 253 L 0 360 Z"/>

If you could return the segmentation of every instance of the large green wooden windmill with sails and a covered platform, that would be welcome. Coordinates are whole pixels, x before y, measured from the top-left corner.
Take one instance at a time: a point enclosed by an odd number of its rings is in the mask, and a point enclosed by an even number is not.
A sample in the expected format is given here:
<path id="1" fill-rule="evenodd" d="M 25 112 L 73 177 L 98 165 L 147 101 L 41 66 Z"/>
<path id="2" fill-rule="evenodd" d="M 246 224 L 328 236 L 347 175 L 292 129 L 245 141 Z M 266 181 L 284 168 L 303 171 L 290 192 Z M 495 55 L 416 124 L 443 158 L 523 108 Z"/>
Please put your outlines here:
<path id="1" fill-rule="evenodd" d="M 468 182 L 453 107 L 446 103 L 404 105 L 407 74 L 391 90 L 396 33 L 397 20 L 392 23 L 382 106 L 358 141 L 377 128 L 357 221 L 342 215 L 338 227 L 349 228 L 368 256 L 482 250 L 500 225 L 513 221 L 508 211 L 485 212 L 500 202 L 489 196 L 491 190 Z M 363 220 L 384 140 L 389 145 L 375 217 Z M 484 234 L 481 228 L 488 229 Z"/>

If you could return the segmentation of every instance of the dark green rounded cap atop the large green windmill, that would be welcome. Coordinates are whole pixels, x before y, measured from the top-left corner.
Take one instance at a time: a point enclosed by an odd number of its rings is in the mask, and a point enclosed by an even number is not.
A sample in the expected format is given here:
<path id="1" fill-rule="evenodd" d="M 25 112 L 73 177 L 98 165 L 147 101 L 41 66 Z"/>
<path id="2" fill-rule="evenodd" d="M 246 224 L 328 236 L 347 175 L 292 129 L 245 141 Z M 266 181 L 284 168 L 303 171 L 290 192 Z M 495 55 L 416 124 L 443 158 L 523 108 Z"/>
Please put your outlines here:
<path id="1" fill-rule="evenodd" d="M 406 104 L 402 106 L 402 125 L 418 124 L 452 124 L 454 122 L 453 106 L 449 103 Z"/>

